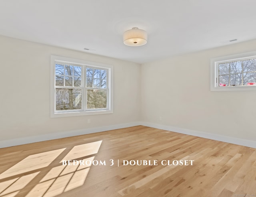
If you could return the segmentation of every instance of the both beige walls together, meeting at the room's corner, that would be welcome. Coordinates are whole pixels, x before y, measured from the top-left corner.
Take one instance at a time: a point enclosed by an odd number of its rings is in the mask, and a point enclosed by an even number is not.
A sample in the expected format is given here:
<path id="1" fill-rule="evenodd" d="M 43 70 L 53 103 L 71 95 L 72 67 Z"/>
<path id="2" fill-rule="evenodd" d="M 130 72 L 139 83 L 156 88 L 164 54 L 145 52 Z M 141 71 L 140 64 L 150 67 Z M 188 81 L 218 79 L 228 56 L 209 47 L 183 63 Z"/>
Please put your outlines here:
<path id="1" fill-rule="evenodd" d="M 4 36 L 0 43 L 3 147 L 140 121 L 256 141 L 256 91 L 210 91 L 210 58 L 256 51 L 256 40 L 142 65 Z M 113 65 L 114 113 L 50 118 L 50 55 Z"/>

